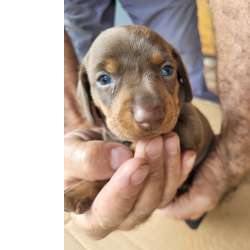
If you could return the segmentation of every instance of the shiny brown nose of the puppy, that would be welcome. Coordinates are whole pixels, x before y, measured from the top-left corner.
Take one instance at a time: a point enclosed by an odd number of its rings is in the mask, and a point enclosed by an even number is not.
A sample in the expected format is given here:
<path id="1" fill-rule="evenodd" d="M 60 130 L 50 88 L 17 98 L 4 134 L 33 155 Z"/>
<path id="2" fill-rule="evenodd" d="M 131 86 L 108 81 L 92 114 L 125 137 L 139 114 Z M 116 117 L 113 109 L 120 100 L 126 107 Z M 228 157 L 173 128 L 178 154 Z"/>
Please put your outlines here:
<path id="1" fill-rule="evenodd" d="M 137 104 L 133 109 L 134 119 L 138 126 L 145 130 L 156 129 L 164 118 L 164 107 L 161 104 Z"/>

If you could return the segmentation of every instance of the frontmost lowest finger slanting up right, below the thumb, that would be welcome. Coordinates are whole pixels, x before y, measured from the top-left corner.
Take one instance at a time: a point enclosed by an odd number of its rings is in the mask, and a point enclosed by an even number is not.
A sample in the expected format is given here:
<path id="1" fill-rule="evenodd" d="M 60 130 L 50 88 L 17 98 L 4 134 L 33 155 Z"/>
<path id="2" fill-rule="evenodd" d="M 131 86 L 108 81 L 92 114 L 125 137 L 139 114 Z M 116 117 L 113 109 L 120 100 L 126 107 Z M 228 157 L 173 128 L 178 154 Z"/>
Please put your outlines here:
<path id="1" fill-rule="evenodd" d="M 127 217 L 148 173 L 144 159 L 125 162 L 103 187 L 91 209 L 75 217 L 76 224 L 94 238 L 105 237 Z"/>

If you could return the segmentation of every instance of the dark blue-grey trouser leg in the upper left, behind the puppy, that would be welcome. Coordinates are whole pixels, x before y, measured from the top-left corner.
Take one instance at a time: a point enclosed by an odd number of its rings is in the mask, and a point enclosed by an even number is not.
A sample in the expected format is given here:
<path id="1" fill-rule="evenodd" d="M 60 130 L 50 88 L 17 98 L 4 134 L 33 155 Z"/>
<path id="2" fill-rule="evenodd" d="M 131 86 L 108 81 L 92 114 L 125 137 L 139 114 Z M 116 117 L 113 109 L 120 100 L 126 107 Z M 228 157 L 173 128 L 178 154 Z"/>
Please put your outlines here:
<path id="1" fill-rule="evenodd" d="M 114 25 L 114 0 L 64 0 L 64 25 L 79 61 L 96 36 Z"/>

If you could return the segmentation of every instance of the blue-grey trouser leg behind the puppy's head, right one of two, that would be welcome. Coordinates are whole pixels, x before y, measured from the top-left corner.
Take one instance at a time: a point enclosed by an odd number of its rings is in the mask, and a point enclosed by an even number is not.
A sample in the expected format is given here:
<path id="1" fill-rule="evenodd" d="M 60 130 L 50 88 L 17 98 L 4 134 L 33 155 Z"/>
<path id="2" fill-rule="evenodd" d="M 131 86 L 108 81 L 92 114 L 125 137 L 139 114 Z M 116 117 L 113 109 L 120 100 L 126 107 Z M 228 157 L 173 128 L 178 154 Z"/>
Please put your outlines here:
<path id="1" fill-rule="evenodd" d="M 120 0 L 135 24 L 161 34 L 180 53 L 188 69 L 194 96 L 218 100 L 207 90 L 197 26 L 195 0 Z"/>

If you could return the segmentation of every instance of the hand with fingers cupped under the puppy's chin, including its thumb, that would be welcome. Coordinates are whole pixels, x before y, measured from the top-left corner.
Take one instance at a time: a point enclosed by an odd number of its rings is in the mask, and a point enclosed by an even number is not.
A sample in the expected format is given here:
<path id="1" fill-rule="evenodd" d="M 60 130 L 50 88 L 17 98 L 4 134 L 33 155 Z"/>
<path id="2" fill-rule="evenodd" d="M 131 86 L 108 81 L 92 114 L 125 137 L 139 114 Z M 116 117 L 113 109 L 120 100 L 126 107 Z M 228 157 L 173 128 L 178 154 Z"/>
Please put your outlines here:
<path id="1" fill-rule="evenodd" d="M 146 220 L 159 206 L 166 206 L 186 179 L 195 158 L 191 151 L 180 156 L 178 137 L 172 134 L 164 140 L 158 137 L 138 142 L 133 159 L 129 159 L 131 152 L 126 148 L 125 151 L 128 151 L 117 158 L 120 162 L 116 165 L 121 166 L 114 173 L 110 167 L 110 151 L 101 149 L 110 144 L 113 143 L 84 142 L 79 137 L 70 138 L 70 141 L 66 139 L 65 143 L 67 183 L 72 183 L 69 176 L 74 176 L 75 181 L 112 176 L 91 209 L 75 216 L 76 224 L 94 238 L 103 238 L 116 229 L 131 229 Z M 77 156 L 73 161 L 72 155 Z"/>

